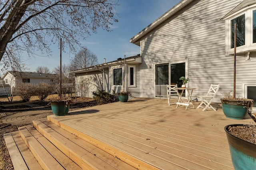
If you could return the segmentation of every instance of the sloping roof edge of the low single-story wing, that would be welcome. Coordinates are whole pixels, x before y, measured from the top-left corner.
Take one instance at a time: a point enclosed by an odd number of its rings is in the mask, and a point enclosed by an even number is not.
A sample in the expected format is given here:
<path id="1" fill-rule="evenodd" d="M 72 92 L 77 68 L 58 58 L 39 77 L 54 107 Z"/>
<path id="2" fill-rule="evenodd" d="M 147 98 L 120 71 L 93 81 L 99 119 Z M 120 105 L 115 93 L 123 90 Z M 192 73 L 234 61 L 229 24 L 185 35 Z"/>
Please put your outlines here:
<path id="1" fill-rule="evenodd" d="M 141 63 L 140 55 L 138 54 L 136 56 L 127 57 L 125 59 L 126 63 L 130 63 L 130 62 L 133 62 L 133 61 Z M 79 69 L 79 70 L 76 70 L 76 71 L 70 71 L 69 73 L 84 73 L 84 72 L 90 72 L 90 71 L 97 71 L 97 70 L 108 68 L 108 66 L 119 65 L 119 64 L 122 64 L 122 63 L 124 63 L 124 58 L 123 59 L 118 59 L 116 61 L 111 61 L 111 62 L 108 62 L 108 63 L 93 65 L 91 67 L 86 67 L 84 69 Z"/>

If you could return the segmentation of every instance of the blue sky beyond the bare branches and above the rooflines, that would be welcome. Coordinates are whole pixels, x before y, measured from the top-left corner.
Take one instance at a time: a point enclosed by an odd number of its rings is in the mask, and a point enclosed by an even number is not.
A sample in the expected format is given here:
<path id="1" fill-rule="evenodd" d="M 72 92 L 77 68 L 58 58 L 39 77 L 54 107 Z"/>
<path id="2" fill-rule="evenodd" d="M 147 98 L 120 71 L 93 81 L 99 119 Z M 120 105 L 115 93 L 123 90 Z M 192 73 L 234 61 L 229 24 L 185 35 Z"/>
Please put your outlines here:
<path id="1" fill-rule="evenodd" d="M 97 55 L 99 63 L 114 61 L 117 58 L 133 56 L 140 53 L 140 47 L 130 43 L 130 38 L 138 34 L 162 14 L 170 10 L 180 0 L 119 0 L 116 7 L 119 22 L 114 23 L 112 32 L 98 29 L 97 34 L 92 34 L 81 42 L 84 47 Z M 60 65 L 60 49 L 52 46 L 52 56 L 36 57 L 26 60 L 26 71 L 36 71 L 38 66 L 47 66 L 50 71 Z M 62 64 L 68 64 L 73 54 L 62 52 Z"/>

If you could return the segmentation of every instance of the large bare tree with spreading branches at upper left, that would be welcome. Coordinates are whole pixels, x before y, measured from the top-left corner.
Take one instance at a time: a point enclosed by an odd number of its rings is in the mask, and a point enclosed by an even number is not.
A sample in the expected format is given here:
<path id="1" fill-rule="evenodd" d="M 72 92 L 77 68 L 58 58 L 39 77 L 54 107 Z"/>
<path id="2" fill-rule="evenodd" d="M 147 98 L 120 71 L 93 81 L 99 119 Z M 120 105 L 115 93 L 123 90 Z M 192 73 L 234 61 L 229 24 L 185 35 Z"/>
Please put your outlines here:
<path id="1" fill-rule="evenodd" d="M 74 52 L 98 28 L 110 31 L 118 22 L 118 0 L 0 0 L 0 61 L 6 56 L 31 57 L 34 51 L 51 55 L 50 45 L 60 43 Z"/>

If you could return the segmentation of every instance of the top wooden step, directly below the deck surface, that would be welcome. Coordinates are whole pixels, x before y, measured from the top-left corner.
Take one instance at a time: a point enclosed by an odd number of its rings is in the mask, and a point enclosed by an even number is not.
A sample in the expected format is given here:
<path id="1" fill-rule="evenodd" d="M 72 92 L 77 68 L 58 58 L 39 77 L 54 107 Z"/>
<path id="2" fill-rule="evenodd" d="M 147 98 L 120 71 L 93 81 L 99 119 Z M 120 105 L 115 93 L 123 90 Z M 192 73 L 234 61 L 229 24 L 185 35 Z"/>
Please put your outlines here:
<path id="1" fill-rule="evenodd" d="M 94 169 L 135 169 L 96 146 L 74 136 L 46 119 L 33 121 L 34 127 L 76 164 Z"/>

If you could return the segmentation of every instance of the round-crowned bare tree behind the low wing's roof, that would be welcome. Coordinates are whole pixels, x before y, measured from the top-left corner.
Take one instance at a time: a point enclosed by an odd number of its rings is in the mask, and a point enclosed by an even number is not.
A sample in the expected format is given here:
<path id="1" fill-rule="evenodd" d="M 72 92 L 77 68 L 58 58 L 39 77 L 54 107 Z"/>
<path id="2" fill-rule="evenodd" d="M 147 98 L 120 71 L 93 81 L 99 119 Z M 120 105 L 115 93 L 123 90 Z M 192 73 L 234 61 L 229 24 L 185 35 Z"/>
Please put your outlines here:
<path id="1" fill-rule="evenodd" d="M 90 51 L 87 47 L 81 49 L 70 61 L 71 71 L 83 69 L 98 64 L 97 55 Z"/>

